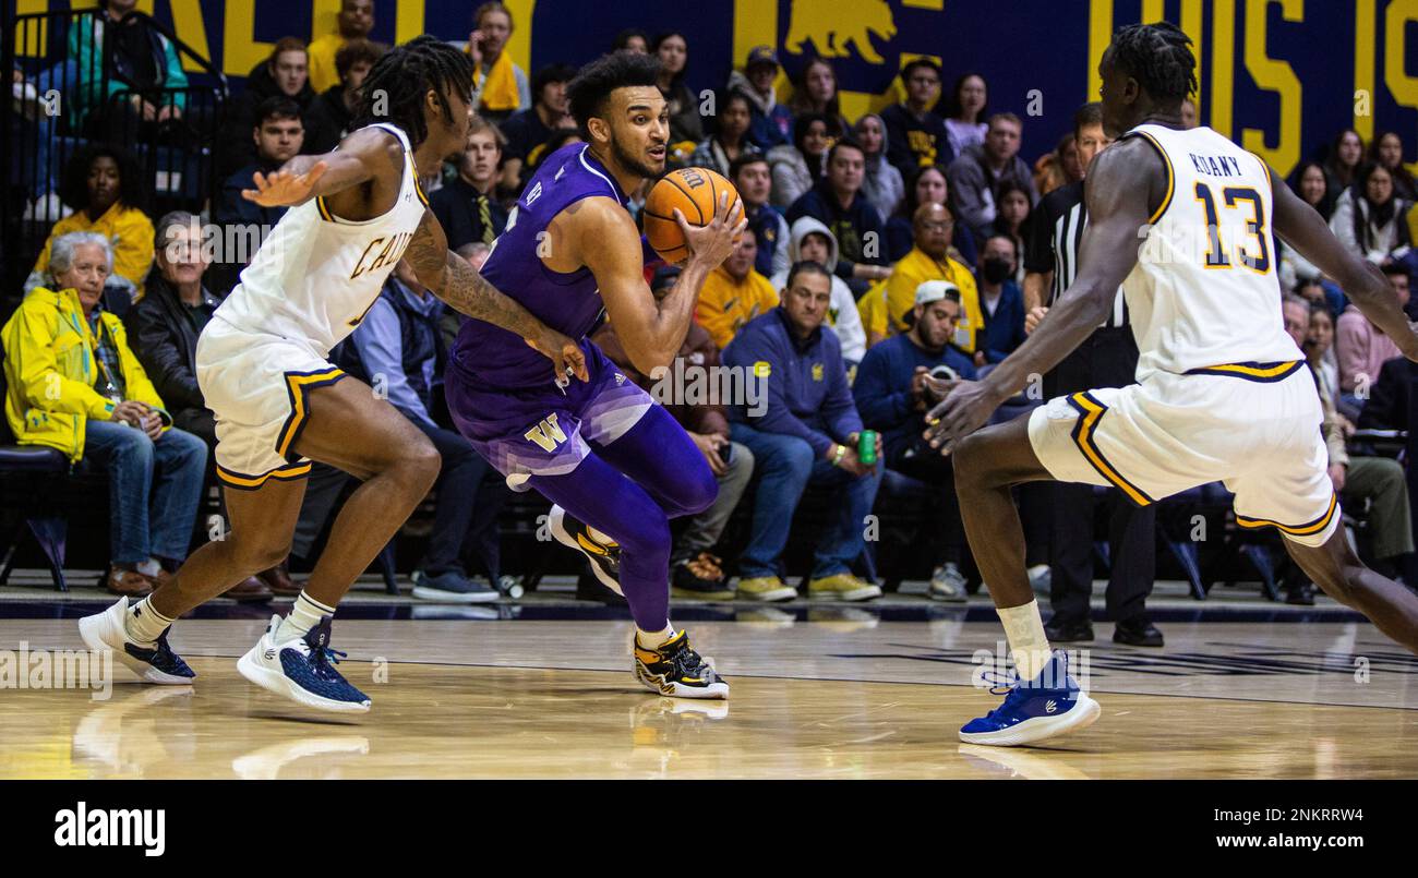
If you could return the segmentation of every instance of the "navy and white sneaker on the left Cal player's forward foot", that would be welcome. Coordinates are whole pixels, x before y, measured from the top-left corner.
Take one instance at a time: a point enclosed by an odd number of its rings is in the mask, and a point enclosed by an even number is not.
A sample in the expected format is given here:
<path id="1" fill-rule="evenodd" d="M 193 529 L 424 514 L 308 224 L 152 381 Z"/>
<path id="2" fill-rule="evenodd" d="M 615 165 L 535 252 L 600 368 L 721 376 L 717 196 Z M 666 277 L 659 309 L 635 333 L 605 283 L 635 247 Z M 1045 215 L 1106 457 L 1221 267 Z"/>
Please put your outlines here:
<path id="1" fill-rule="evenodd" d="M 278 641 L 281 617 L 272 616 L 267 633 L 257 645 L 237 661 L 237 671 L 262 689 L 284 695 L 291 701 L 340 713 L 369 711 L 369 696 L 340 677 L 335 664 L 345 652 L 330 648 L 330 617 L 305 637 Z"/>

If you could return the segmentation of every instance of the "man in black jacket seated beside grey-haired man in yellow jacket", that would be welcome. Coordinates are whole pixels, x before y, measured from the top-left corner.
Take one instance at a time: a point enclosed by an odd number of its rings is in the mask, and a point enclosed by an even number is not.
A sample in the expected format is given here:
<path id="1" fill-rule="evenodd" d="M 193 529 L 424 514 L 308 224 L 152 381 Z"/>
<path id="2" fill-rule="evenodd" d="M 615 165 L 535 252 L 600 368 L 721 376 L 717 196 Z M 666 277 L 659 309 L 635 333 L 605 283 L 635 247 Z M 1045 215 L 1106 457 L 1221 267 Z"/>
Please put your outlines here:
<path id="1" fill-rule="evenodd" d="M 206 443 L 210 461 L 217 447 L 217 423 L 197 386 L 197 336 L 221 299 L 203 284 L 210 254 L 203 248 L 201 221 L 184 210 L 164 214 L 157 220 L 155 250 L 147 291 L 128 312 L 125 326 L 132 333 L 138 362 L 166 403 L 173 427 Z M 277 584 L 284 589 L 275 591 Z M 248 576 L 228 589 L 225 597 L 257 603 L 277 593 L 298 591 L 282 565 Z"/>

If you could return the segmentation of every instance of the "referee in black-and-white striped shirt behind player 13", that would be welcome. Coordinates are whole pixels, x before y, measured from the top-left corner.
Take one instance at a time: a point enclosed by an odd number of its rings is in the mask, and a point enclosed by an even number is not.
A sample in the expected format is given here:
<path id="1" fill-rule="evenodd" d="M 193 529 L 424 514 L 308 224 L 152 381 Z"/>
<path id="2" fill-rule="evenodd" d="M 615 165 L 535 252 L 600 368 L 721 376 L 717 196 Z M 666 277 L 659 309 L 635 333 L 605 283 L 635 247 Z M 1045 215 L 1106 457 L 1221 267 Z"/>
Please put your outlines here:
<path id="1" fill-rule="evenodd" d="M 1073 136 L 1085 173 L 1110 140 L 1103 133 L 1103 108 L 1085 104 L 1073 115 Z M 1078 274 L 1078 248 L 1088 213 L 1083 182 L 1055 189 L 1039 200 L 1029 217 L 1025 247 L 1024 309 L 1032 332 Z M 1045 304 L 1046 299 L 1046 304 Z M 1123 291 L 1117 291 L 1107 321 L 1054 372 L 1044 376 L 1044 399 L 1092 387 L 1123 387 L 1136 380 L 1137 342 L 1127 321 Z M 1051 643 L 1093 640 L 1089 599 L 1093 594 L 1093 498 L 1092 485 L 1056 482 L 1049 485 L 1052 528 L 1049 603 L 1054 616 L 1044 627 Z M 1107 580 L 1107 616 L 1115 620 L 1115 643 L 1139 647 L 1163 645 L 1161 631 L 1147 618 L 1147 596 L 1156 576 L 1154 506 L 1137 506 L 1116 488 L 1107 489 L 1112 506 L 1109 545 L 1112 573 Z"/>

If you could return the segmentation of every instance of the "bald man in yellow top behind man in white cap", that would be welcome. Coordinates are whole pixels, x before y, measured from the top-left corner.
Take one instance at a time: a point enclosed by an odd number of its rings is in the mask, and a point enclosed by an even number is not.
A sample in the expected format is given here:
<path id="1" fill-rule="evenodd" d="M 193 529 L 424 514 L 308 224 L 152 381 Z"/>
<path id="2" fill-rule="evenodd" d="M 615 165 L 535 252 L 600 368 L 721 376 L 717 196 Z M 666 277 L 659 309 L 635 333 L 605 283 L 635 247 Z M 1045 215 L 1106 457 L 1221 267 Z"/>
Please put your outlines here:
<path id="1" fill-rule="evenodd" d="M 885 338 L 888 332 L 906 329 L 906 315 L 916 306 L 916 288 L 926 281 L 950 281 L 960 291 L 961 315 L 954 343 L 974 357 L 977 333 L 984 328 L 980 294 L 970 269 L 950 257 L 950 237 L 954 218 L 944 204 L 927 203 L 916 209 L 915 245 L 892 267 L 886 281 L 886 311 L 862 318 L 868 338 L 875 329 Z M 889 322 L 889 326 L 888 326 Z"/>

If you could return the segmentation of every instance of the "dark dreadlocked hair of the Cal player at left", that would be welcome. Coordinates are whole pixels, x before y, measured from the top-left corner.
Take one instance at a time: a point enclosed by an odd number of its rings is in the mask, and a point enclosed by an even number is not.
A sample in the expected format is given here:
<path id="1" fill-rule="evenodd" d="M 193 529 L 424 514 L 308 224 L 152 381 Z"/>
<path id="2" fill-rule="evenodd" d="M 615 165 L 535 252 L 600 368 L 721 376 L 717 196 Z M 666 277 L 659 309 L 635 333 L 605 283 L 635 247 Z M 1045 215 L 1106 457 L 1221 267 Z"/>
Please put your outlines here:
<path id="1" fill-rule="evenodd" d="M 472 101 L 472 60 L 442 40 L 427 34 L 396 45 L 374 62 L 359 89 L 354 128 L 391 122 L 418 146 L 428 138 L 424 122 L 424 95 L 438 95 L 444 115 L 452 118 L 448 95 L 457 92 Z M 383 112 L 376 112 L 381 109 Z"/>

